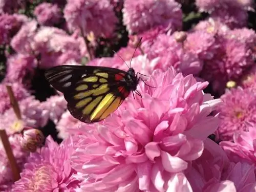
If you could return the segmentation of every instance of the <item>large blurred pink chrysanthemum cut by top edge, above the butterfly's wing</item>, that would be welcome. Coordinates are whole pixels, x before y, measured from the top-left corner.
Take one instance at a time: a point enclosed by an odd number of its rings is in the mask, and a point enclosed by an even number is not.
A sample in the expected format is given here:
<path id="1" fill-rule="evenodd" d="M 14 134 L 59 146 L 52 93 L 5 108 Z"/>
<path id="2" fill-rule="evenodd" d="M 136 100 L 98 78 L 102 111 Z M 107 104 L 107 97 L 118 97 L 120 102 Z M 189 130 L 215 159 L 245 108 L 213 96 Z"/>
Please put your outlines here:
<path id="1" fill-rule="evenodd" d="M 108 0 L 69 0 L 64 17 L 71 30 L 82 29 L 84 35 L 92 32 L 96 38 L 111 37 L 118 22 Z"/>

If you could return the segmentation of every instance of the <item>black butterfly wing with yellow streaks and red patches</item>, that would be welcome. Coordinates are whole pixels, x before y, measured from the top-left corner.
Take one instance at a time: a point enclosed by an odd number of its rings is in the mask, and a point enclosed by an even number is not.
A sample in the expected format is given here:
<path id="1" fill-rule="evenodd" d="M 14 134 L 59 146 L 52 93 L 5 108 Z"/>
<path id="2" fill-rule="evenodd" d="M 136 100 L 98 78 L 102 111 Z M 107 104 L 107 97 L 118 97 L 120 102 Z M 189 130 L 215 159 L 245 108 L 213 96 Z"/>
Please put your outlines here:
<path id="1" fill-rule="evenodd" d="M 45 76 L 64 94 L 71 115 L 92 123 L 108 117 L 129 95 L 125 74 L 106 67 L 57 66 L 47 70 Z"/>

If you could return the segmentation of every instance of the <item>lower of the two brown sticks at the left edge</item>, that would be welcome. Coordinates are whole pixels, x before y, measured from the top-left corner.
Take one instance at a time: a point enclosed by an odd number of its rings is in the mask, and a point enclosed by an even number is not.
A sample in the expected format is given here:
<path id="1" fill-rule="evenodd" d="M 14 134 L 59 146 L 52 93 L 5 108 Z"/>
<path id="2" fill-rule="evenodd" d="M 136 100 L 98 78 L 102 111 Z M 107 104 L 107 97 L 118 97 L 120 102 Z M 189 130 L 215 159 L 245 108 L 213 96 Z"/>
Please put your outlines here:
<path id="1" fill-rule="evenodd" d="M 14 179 L 14 181 L 17 181 L 20 179 L 19 168 L 18 168 L 18 164 L 15 160 L 15 157 L 12 153 L 12 148 L 11 148 L 11 145 L 10 145 L 10 142 L 8 140 L 8 136 L 7 136 L 5 130 L 0 130 L 0 138 L 3 142 L 3 146 L 5 148 L 7 158 L 11 165 L 13 179 Z"/>

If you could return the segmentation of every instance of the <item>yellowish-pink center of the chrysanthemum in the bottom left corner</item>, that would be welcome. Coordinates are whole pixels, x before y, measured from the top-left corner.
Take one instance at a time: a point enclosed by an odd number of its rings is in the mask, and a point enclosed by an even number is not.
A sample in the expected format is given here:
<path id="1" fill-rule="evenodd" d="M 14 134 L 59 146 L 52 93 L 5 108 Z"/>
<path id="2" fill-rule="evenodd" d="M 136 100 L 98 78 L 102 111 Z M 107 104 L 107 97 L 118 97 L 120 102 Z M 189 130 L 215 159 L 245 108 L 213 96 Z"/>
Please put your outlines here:
<path id="1" fill-rule="evenodd" d="M 28 184 L 31 191 L 44 191 L 52 187 L 52 168 L 50 166 L 41 166 L 33 174 L 34 178 Z"/>

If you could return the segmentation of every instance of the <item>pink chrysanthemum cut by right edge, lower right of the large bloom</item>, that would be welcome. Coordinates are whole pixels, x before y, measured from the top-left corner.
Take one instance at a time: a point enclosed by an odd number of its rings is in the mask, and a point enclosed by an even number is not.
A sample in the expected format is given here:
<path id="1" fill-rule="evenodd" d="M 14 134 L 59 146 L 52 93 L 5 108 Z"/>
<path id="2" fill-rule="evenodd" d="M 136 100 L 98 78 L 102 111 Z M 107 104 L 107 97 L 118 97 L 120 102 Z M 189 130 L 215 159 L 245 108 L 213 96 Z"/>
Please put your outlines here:
<path id="1" fill-rule="evenodd" d="M 247 124 L 248 131 L 241 131 L 233 134 L 233 142 L 222 141 L 220 146 L 223 148 L 228 158 L 233 162 L 248 162 L 256 165 L 256 130 L 253 123 Z"/>

